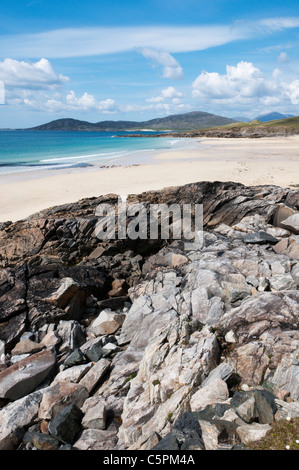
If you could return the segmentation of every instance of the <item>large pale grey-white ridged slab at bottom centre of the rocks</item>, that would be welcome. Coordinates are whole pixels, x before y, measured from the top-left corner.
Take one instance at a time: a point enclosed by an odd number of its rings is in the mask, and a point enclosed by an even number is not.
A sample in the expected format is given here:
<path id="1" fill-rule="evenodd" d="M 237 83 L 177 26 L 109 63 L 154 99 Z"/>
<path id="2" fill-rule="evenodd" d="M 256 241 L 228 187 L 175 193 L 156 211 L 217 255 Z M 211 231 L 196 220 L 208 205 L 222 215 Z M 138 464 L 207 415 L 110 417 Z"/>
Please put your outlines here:
<path id="1" fill-rule="evenodd" d="M 179 328 L 173 323 L 162 330 L 144 351 L 124 402 L 119 437 L 125 446 L 145 441 L 152 429 L 163 437 L 184 403 L 189 402 L 194 385 L 217 364 L 219 350 L 213 334 L 197 331 L 187 345 L 178 347 Z"/>

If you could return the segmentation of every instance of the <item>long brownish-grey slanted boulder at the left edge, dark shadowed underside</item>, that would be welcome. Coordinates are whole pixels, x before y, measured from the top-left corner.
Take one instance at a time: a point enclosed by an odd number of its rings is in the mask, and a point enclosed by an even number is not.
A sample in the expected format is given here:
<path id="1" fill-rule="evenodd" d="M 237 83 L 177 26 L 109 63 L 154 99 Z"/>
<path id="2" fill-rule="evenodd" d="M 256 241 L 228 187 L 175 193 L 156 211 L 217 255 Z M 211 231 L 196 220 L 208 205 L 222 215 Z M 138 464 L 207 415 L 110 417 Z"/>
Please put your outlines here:
<path id="1" fill-rule="evenodd" d="M 55 363 L 50 351 L 41 351 L 0 372 L 0 397 L 18 400 L 47 377 Z"/>

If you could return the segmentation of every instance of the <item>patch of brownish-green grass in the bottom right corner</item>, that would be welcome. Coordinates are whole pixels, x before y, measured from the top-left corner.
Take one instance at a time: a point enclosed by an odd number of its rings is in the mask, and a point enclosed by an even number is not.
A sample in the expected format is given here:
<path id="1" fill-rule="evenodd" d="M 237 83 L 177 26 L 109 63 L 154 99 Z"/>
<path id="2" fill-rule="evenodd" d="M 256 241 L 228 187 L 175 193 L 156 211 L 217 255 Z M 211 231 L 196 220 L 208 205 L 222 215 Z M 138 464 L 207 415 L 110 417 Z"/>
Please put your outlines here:
<path id="1" fill-rule="evenodd" d="M 276 421 L 263 439 L 247 446 L 252 450 L 299 450 L 299 418 Z"/>

